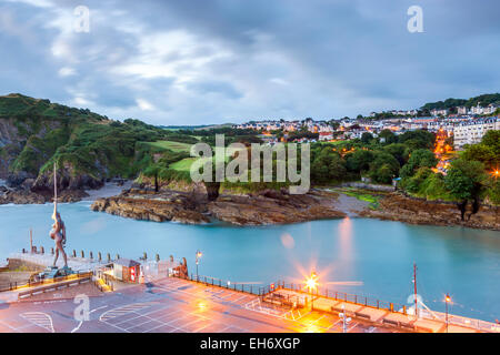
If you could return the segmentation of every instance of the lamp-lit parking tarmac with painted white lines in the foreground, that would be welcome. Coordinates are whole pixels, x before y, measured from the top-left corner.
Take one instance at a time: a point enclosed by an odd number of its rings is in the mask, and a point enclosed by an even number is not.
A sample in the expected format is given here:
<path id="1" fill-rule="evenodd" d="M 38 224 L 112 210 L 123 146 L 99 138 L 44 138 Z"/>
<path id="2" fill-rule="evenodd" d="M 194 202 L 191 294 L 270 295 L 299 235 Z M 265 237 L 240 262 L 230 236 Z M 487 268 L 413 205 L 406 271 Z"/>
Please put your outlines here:
<path id="1" fill-rule="evenodd" d="M 113 332 L 113 333 L 342 333 L 338 314 L 320 310 L 338 303 L 314 300 L 314 310 L 296 311 L 261 302 L 257 295 L 206 285 L 176 277 L 157 278 L 114 293 L 90 297 L 90 320 L 73 320 L 72 300 L 0 303 L 0 332 Z M 386 314 L 382 310 L 360 310 L 346 304 L 346 310 L 369 313 L 373 318 L 401 321 L 406 315 Z M 443 332 L 439 322 L 421 322 L 421 332 Z M 390 324 L 352 318 L 349 333 L 410 332 Z M 450 325 L 449 332 L 471 332 Z"/>

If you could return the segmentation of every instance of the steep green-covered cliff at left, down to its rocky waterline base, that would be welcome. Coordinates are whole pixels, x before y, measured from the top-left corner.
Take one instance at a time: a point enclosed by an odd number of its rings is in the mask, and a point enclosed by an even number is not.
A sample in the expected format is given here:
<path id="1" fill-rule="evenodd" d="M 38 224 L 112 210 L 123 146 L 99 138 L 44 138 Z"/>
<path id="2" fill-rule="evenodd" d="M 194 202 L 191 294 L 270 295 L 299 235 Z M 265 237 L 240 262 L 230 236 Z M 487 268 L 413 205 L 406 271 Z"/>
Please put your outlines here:
<path id="1" fill-rule="evenodd" d="M 107 179 L 134 178 L 149 163 L 144 154 L 142 165 L 137 161 L 137 143 L 166 135 L 137 120 L 112 121 L 87 109 L 21 94 L 0 97 L 0 179 L 9 187 L 0 203 L 49 201 L 53 164 L 58 189 L 70 200 L 78 200 L 84 189 L 102 186 Z"/>

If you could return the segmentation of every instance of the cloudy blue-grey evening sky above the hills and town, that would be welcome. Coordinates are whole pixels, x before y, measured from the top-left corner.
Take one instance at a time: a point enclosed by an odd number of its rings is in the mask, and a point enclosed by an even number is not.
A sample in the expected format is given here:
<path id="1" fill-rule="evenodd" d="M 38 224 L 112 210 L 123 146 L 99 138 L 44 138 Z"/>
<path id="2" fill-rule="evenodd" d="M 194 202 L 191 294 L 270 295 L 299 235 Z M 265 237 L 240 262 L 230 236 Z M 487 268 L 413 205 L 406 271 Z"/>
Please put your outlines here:
<path id="1" fill-rule="evenodd" d="M 0 94 L 163 125 L 409 110 L 500 91 L 499 14 L 498 0 L 0 0 Z"/>

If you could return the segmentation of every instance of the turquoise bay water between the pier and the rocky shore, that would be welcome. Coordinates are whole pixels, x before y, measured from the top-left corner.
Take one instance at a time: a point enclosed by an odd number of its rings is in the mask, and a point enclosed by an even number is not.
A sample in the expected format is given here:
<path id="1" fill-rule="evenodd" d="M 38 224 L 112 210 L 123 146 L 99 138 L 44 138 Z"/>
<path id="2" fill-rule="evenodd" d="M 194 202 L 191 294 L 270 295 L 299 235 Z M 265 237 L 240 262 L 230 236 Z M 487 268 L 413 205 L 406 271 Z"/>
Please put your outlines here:
<path id="1" fill-rule="evenodd" d="M 452 312 L 500 318 L 500 233 L 462 227 L 416 226 L 370 219 L 316 221 L 293 225 L 233 227 L 139 222 L 91 212 L 90 202 L 62 204 L 67 250 L 111 253 L 137 258 L 147 252 L 162 258 L 186 256 L 194 273 L 194 254 L 203 252 L 199 272 L 231 282 L 264 285 L 277 280 L 301 282 L 316 268 L 330 290 L 406 304 L 413 292 L 442 311 L 443 295 Z M 34 244 L 47 250 L 51 205 L 0 206 L 0 256 Z M 346 286 L 333 282 L 362 282 Z"/>

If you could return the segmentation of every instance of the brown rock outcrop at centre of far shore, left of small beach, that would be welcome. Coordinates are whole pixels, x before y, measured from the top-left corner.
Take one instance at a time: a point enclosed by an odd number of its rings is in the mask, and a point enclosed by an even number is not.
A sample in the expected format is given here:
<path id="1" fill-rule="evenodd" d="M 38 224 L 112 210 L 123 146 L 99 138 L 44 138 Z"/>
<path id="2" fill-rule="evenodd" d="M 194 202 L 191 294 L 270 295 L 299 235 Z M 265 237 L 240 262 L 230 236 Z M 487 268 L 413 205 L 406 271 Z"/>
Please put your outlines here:
<path id="1" fill-rule="evenodd" d="M 216 201 L 178 191 L 153 193 L 130 190 L 119 196 L 97 200 L 92 211 L 146 221 L 207 223 L 217 219 L 236 225 L 297 223 L 320 219 L 343 217 L 333 206 L 336 194 L 311 192 L 288 195 L 262 191 L 251 195 L 220 195 Z"/>

